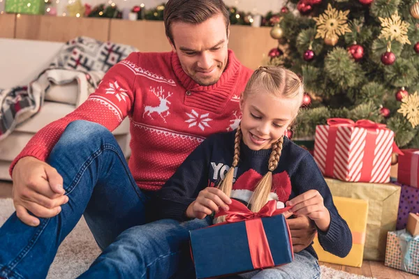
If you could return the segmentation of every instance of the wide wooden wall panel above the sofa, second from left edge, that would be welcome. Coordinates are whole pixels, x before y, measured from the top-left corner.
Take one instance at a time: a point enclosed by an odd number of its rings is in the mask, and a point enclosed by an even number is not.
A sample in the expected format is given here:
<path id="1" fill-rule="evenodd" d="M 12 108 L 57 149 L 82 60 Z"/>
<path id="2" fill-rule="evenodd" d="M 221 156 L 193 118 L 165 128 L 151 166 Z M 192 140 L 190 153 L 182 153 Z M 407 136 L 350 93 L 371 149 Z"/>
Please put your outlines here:
<path id="1" fill-rule="evenodd" d="M 20 15 L 16 20 L 16 38 L 66 42 L 78 36 L 108 40 L 110 20 L 89 17 L 51 17 Z"/>

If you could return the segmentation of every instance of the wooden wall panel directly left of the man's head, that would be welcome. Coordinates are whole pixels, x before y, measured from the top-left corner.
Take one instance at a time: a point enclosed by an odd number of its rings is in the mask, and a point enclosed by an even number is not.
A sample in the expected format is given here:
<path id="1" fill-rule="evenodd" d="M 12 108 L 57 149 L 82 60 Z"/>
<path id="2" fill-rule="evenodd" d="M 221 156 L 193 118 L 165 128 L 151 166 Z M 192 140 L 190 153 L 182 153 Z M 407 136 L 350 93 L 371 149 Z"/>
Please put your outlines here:
<path id="1" fill-rule="evenodd" d="M 111 20 L 109 40 L 137 47 L 140 52 L 169 52 L 170 44 L 166 38 L 161 21 Z"/>

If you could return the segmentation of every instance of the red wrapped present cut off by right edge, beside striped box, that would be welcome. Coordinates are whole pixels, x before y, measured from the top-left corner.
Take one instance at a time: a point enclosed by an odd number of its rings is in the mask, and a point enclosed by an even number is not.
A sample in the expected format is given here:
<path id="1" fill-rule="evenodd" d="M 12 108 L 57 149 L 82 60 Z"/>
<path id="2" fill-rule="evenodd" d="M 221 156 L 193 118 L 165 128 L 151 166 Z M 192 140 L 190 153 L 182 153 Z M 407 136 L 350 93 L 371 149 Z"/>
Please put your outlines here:
<path id="1" fill-rule="evenodd" d="M 399 155 L 397 182 L 419 188 L 419 149 L 403 149 Z"/>

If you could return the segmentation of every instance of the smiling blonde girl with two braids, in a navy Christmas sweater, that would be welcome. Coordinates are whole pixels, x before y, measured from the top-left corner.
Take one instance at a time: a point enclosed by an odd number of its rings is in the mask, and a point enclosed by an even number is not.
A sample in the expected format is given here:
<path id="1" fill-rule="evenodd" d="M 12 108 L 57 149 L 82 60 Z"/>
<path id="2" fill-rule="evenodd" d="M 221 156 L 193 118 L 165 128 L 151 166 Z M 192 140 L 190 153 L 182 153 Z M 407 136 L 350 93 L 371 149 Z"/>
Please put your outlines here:
<path id="1" fill-rule="evenodd" d="M 302 103 L 302 82 L 279 67 L 260 67 L 240 99 L 242 121 L 237 130 L 212 135 L 186 158 L 158 193 L 154 211 L 159 218 L 203 219 L 239 199 L 253 212 L 268 200 L 277 208 L 316 223 L 321 246 L 339 257 L 352 247 L 352 236 L 339 216 L 332 195 L 308 151 L 284 137 Z M 231 167 L 230 167 L 231 166 Z M 217 181 L 221 185 L 216 188 Z M 312 246 L 295 255 L 291 264 L 260 271 L 253 278 L 316 278 Z"/>

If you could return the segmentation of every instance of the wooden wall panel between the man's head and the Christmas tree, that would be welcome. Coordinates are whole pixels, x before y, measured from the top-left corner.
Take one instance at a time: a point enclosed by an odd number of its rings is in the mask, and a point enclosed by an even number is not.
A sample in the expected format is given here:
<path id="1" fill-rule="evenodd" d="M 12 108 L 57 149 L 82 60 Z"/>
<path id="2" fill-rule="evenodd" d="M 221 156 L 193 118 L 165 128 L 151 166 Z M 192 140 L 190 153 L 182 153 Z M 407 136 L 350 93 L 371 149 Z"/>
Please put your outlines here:
<path id="1" fill-rule="evenodd" d="M 277 47 L 278 41 L 270 36 L 270 27 L 247 27 L 232 25 L 228 48 L 235 52 L 244 66 L 256 70 L 262 65 L 268 52 Z"/>

